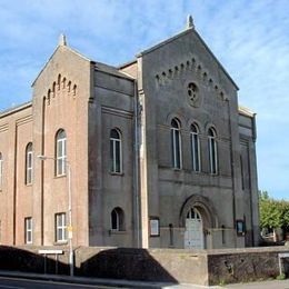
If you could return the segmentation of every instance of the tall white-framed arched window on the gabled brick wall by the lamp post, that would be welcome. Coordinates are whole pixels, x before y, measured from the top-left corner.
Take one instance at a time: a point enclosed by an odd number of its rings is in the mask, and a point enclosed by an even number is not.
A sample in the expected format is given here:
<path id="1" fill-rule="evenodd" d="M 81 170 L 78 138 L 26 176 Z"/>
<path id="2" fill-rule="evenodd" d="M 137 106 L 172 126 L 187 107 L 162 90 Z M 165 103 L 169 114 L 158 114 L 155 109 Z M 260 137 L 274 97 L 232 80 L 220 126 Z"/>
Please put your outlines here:
<path id="1" fill-rule="evenodd" d="M 67 173 L 67 133 L 60 129 L 56 136 L 56 176 Z"/>

